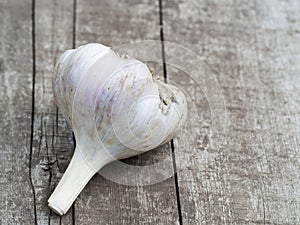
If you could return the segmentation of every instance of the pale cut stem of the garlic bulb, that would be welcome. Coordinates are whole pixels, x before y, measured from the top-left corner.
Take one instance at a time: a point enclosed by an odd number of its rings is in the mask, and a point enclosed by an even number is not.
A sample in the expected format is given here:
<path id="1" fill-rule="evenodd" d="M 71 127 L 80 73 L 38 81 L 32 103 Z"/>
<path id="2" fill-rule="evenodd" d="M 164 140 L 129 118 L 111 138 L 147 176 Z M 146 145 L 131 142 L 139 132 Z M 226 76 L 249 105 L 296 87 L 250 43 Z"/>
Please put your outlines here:
<path id="1" fill-rule="evenodd" d="M 102 165 L 101 163 L 98 165 L 101 168 L 105 164 L 106 162 L 103 161 Z M 94 169 L 92 165 L 87 163 L 79 147 L 76 147 L 64 176 L 48 200 L 49 207 L 59 215 L 64 215 L 97 171 L 97 169 Z"/>

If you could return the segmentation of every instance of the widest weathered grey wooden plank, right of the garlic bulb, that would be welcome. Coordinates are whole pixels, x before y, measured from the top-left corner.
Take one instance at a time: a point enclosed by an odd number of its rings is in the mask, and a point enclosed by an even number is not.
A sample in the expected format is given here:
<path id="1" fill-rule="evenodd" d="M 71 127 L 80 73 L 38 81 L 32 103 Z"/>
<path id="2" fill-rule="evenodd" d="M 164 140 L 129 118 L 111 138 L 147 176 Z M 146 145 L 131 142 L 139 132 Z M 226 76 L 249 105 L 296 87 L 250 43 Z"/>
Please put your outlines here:
<path id="1" fill-rule="evenodd" d="M 164 1 L 165 39 L 206 60 L 227 108 L 227 133 L 214 148 L 201 84 L 168 67 L 192 108 L 191 127 L 174 142 L 177 165 L 187 164 L 178 173 L 184 224 L 300 223 L 299 7 L 298 1 Z M 175 53 L 166 49 L 166 59 Z"/>

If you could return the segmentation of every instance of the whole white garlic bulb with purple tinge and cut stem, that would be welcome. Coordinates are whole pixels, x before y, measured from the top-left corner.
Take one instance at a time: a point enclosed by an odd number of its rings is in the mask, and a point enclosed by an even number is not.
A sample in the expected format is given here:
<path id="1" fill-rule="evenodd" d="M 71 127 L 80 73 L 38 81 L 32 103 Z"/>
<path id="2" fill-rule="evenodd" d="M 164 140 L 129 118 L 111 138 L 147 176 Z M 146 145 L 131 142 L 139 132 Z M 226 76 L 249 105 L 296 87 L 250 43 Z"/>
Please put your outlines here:
<path id="1" fill-rule="evenodd" d="M 48 200 L 60 215 L 101 167 L 171 140 L 187 114 L 177 87 L 156 79 L 144 63 L 101 44 L 61 56 L 54 93 L 76 139 L 73 158 Z"/>

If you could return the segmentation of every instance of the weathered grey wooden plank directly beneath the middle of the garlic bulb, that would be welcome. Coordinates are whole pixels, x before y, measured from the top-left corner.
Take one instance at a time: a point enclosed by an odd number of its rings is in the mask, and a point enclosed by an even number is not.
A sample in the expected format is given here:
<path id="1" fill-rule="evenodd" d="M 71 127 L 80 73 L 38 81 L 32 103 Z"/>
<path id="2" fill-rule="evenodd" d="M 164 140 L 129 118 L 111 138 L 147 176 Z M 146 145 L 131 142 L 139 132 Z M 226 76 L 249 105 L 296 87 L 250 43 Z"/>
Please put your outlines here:
<path id="1" fill-rule="evenodd" d="M 77 12 L 77 46 L 99 42 L 116 47 L 134 40 L 159 39 L 158 2 L 155 1 L 79 0 Z M 125 162 L 149 165 L 166 156 L 170 156 L 168 145 Z M 78 224 L 178 223 L 173 178 L 150 186 L 130 187 L 96 175 L 75 206 Z"/>

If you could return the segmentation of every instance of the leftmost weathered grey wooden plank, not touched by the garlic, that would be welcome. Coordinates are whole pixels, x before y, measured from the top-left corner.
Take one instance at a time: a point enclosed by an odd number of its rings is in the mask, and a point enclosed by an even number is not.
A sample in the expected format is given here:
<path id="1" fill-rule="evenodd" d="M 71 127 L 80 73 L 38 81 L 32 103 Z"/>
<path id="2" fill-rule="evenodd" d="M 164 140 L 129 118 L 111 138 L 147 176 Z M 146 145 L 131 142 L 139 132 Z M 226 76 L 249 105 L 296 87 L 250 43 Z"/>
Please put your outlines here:
<path id="1" fill-rule="evenodd" d="M 1 0 L 0 17 L 0 224 L 34 224 L 31 1 Z"/>

